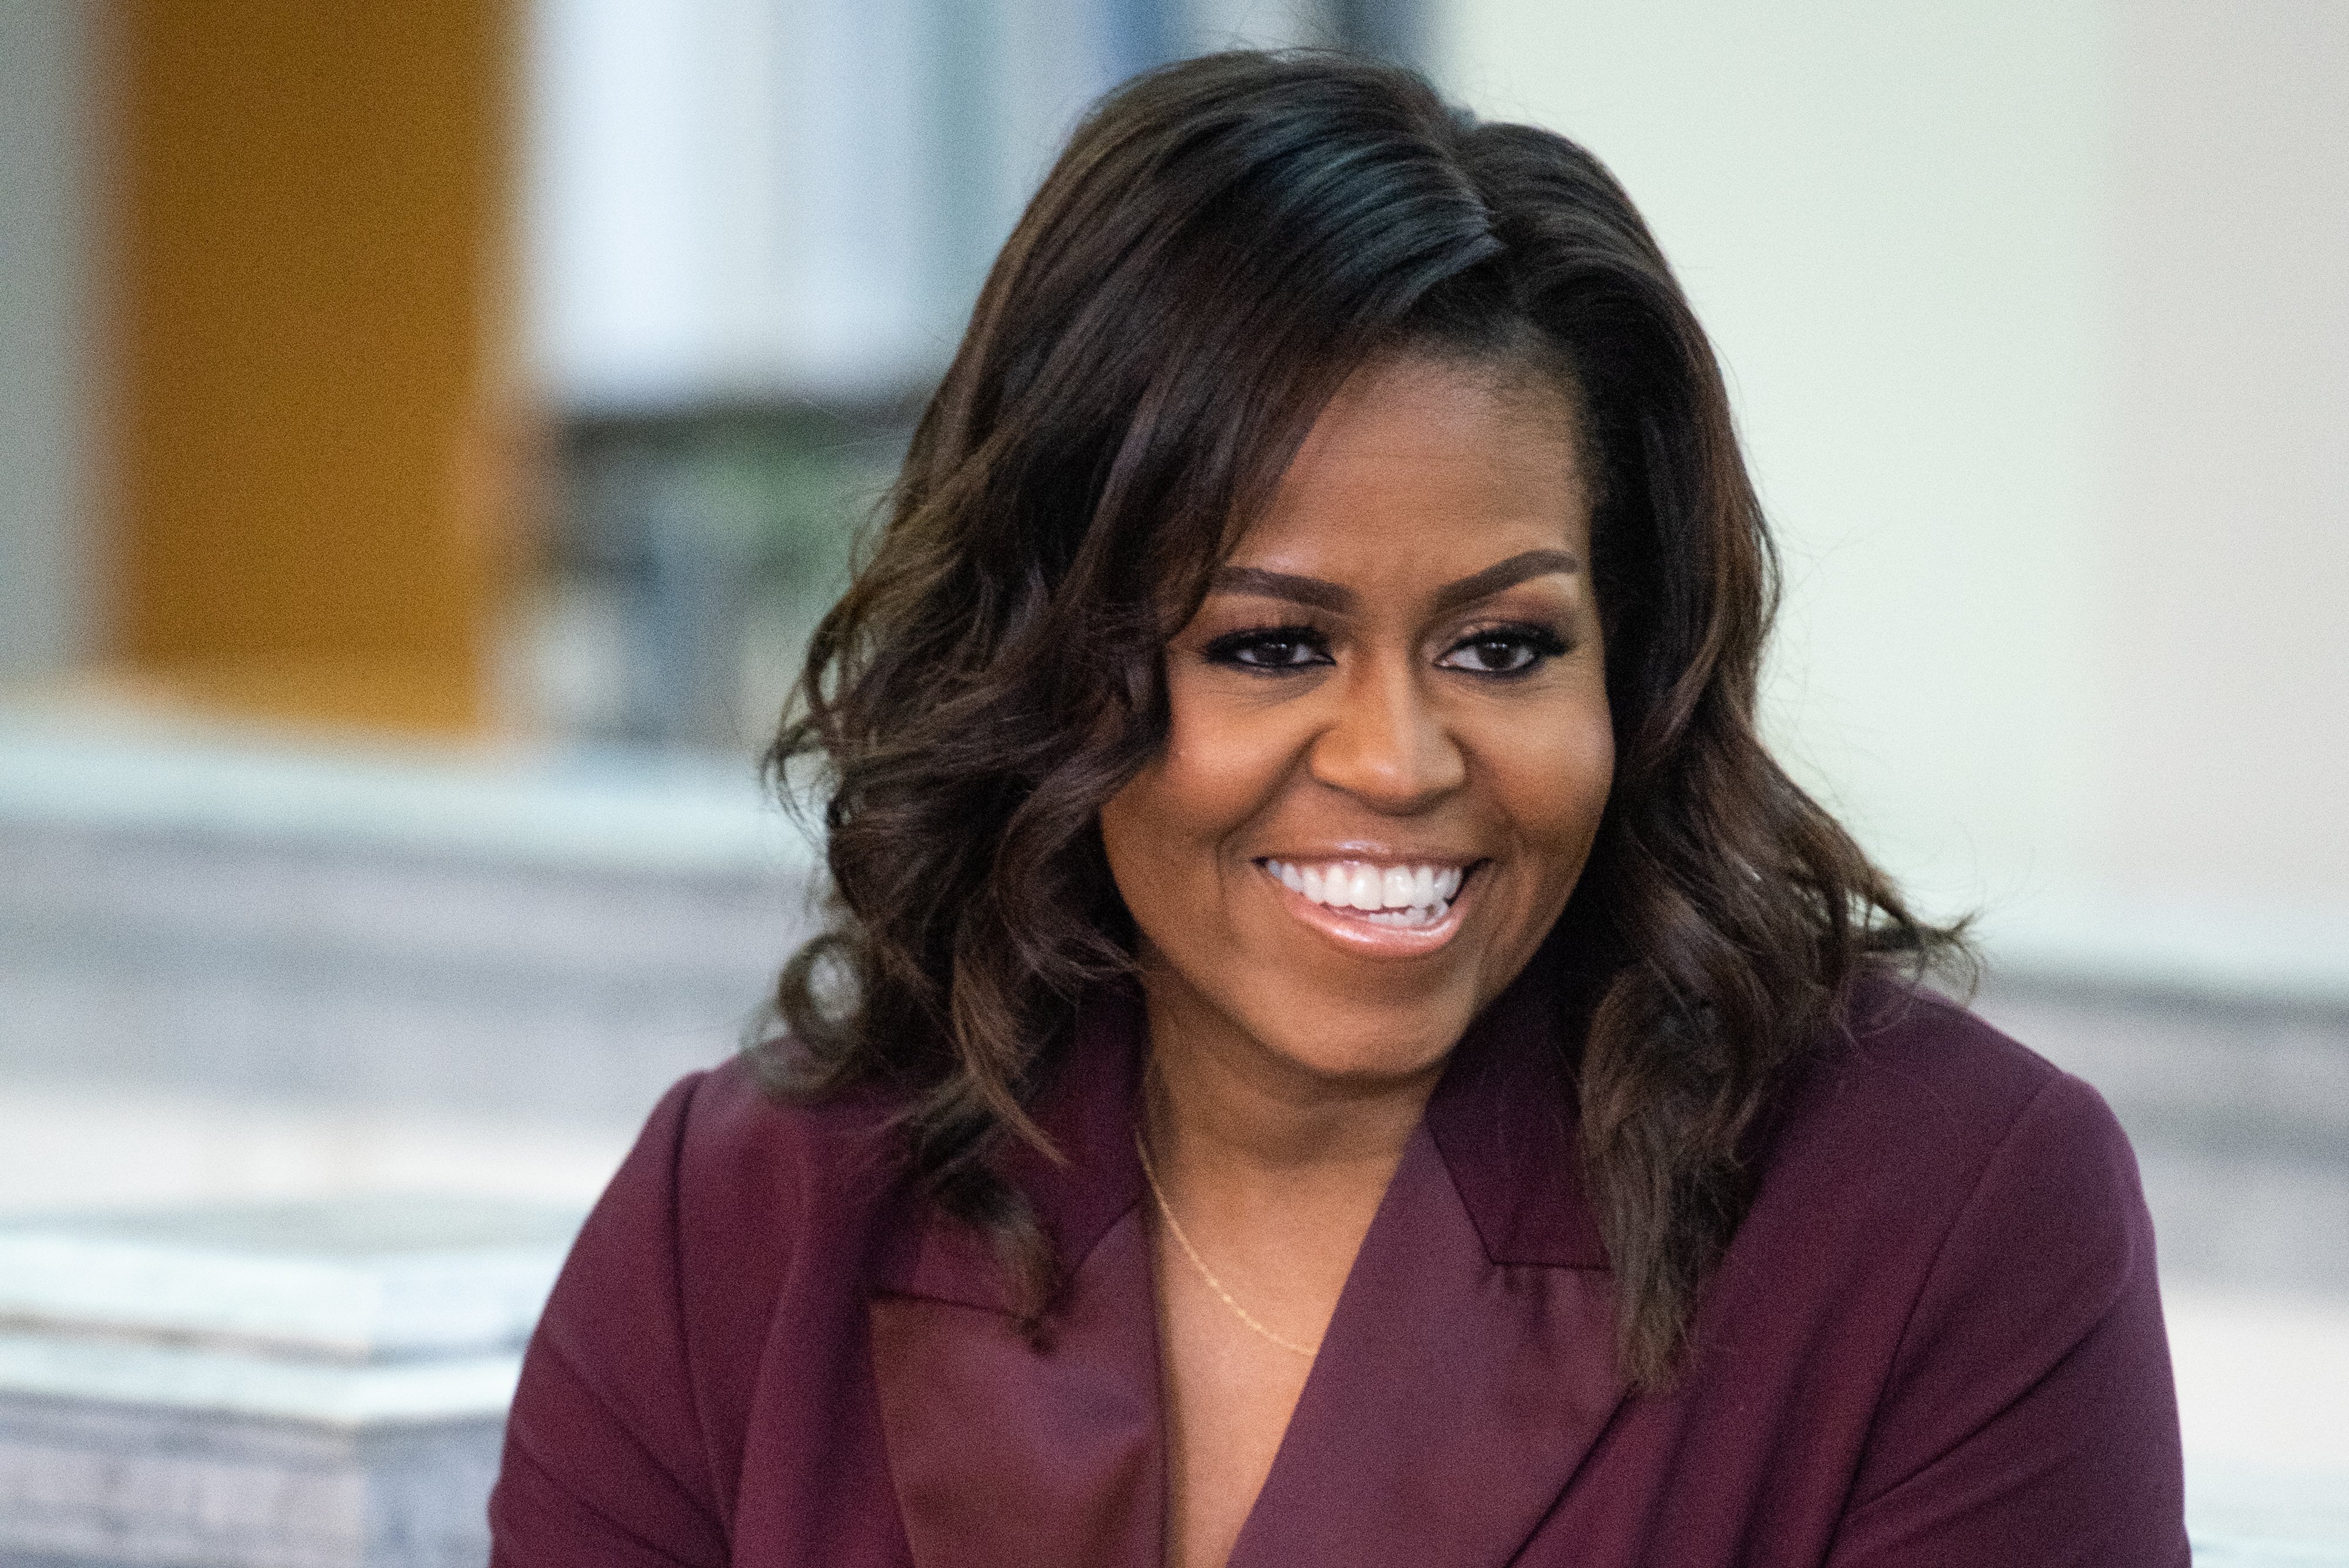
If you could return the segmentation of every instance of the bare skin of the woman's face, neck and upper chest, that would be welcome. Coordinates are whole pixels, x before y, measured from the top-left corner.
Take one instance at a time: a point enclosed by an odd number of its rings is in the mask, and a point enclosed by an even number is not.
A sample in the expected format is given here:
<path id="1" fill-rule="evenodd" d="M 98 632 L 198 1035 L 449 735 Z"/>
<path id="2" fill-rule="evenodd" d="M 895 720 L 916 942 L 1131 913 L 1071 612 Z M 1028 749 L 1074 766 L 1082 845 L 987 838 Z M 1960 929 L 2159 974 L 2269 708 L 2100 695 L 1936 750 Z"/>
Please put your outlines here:
<path id="1" fill-rule="evenodd" d="M 1445 1059 L 1557 920 L 1607 805 L 1574 420 L 1515 366 L 1362 366 L 1170 641 L 1165 751 L 1102 807 L 1142 932 L 1160 1185 L 1233 1300 L 1304 1347 Z M 1393 930 L 1266 859 L 1468 873 L 1440 922 Z M 1311 1361 L 1153 1225 L 1167 1563 L 1212 1568 Z"/>

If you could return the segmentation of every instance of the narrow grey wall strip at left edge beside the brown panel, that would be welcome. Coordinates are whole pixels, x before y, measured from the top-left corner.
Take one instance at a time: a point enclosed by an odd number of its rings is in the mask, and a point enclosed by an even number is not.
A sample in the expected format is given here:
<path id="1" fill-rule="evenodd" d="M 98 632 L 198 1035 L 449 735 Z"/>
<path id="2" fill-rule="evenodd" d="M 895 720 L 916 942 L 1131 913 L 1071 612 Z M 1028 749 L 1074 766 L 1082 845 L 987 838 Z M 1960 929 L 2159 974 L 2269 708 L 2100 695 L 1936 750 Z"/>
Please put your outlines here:
<path id="1" fill-rule="evenodd" d="M 0 681 L 94 643 L 92 7 L 0 5 Z"/>

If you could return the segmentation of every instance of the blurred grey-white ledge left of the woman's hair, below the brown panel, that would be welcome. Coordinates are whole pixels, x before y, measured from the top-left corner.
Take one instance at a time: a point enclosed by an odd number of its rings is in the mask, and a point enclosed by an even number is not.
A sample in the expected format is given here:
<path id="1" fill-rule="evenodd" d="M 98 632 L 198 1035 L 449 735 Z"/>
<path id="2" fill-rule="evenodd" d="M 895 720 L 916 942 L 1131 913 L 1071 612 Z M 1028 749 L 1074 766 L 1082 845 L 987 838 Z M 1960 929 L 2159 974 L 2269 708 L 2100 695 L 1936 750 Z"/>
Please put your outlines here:
<path id="1" fill-rule="evenodd" d="M 747 761 L 0 716 L 0 1073 L 632 1124 L 810 930 Z"/>

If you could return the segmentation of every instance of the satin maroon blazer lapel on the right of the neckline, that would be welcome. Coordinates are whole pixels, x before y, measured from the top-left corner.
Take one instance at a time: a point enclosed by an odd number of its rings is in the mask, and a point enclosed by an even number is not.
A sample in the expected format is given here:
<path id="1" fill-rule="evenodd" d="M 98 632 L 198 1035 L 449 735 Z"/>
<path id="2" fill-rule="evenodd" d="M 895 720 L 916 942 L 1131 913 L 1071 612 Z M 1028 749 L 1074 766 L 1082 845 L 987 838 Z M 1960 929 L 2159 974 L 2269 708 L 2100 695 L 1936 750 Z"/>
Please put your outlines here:
<path id="1" fill-rule="evenodd" d="M 1461 1042 L 1231 1568 L 1506 1563 L 1623 1401 L 1553 1040 L 1517 986 Z"/>

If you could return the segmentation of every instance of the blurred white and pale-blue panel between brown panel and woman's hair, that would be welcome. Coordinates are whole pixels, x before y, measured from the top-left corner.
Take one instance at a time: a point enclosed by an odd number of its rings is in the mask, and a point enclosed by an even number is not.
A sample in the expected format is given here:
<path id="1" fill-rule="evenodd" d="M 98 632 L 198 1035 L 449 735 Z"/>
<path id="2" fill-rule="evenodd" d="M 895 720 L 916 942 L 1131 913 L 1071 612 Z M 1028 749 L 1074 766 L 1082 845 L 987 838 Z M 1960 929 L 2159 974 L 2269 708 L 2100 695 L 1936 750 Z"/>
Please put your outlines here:
<path id="1" fill-rule="evenodd" d="M 1351 40 L 1416 0 L 536 0 L 529 343 L 559 411 L 935 378 L 1085 106 L 1165 59 Z"/>

